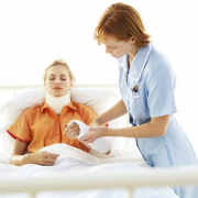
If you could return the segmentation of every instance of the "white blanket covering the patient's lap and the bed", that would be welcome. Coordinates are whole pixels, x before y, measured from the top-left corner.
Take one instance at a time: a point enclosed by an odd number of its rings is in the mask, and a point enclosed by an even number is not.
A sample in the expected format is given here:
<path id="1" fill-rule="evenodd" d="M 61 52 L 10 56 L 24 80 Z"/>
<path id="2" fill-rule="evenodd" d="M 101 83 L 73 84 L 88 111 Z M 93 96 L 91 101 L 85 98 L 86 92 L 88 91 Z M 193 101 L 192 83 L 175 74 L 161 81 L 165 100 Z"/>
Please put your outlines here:
<path id="1" fill-rule="evenodd" d="M 98 158 L 88 153 L 66 144 L 54 144 L 46 146 L 41 151 L 53 152 L 59 154 L 54 166 L 40 166 L 35 164 L 28 164 L 23 166 L 0 165 L 0 174 L 12 175 L 31 175 L 35 177 L 52 175 L 52 174 L 67 174 L 67 173 L 118 173 L 130 172 L 134 168 L 142 167 L 131 162 L 113 163 L 110 158 Z M 111 164 L 110 164 L 111 163 Z M 86 180 L 85 178 L 80 178 Z M 26 194 L 1 194 L 0 198 L 28 198 Z M 42 191 L 37 195 L 38 198 L 120 198 L 124 197 L 122 189 L 97 189 L 85 191 Z M 142 188 L 135 191 L 135 198 L 178 198 L 169 187 L 162 188 Z"/>

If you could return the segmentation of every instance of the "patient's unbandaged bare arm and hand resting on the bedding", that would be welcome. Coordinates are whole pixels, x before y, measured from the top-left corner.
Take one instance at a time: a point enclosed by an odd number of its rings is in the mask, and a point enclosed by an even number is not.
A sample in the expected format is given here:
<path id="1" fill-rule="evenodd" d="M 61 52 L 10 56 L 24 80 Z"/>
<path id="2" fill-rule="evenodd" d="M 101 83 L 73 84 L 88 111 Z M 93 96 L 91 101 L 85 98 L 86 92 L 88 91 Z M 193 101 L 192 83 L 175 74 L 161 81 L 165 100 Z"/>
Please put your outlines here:
<path id="1" fill-rule="evenodd" d="M 24 164 L 40 164 L 52 166 L 58 154 L 47 153 L 47 152 L 35 152 L 30 154 L 24 154 L 28 147 L 26 142 L 15 140 L 15 145 L 13 154 L 10 160 L 10 164 L 22 166 Z"/>

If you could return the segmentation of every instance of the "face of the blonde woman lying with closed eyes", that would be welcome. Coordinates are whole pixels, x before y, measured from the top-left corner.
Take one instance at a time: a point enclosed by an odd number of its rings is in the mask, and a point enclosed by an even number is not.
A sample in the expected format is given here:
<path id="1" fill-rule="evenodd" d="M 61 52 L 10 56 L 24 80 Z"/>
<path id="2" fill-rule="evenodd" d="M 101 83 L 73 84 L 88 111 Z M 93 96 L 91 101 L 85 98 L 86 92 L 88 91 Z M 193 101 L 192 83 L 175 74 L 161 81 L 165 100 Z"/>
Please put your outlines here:
<path id="1" fill-rule="evenodd" d="M 70 78 L 65 66 L 52 66 L 47 70 L 45 88 L 50 95 L 62 97 L 70 89 Z"/>

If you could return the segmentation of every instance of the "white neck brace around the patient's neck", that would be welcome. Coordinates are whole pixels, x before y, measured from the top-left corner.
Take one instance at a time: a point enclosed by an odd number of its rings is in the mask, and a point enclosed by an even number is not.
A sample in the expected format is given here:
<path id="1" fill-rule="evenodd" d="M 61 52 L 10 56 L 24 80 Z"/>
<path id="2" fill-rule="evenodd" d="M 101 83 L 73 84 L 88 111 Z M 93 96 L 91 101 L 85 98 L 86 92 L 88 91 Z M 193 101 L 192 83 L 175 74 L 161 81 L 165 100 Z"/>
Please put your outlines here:
<path id="1" fill-rule="evenodd" d="M 61 114 L 63 107 L 68 106 L 70 102 L 70 91 L 68 91 L 63 97 L 54 97 L 50 95 L 48 91 L 46 91 L 45 102 L 56 114 Z"/>

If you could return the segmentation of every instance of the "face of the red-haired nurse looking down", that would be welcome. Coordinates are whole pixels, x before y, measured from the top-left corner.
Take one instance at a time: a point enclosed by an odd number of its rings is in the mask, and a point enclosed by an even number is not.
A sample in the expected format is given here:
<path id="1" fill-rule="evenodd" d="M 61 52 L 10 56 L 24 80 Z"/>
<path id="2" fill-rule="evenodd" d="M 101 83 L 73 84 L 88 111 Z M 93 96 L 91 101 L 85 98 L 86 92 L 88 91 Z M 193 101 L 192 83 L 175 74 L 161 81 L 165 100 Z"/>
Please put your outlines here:
<path id="1" fill-rule="evenodd" d="M 136 40 L 135 40 L 136 41 Z M 105 38 L 106 53 L 114 58 L 120 58 L 125 54 L 133 52 L 135 41 L 131 37 L 128 41 L 118 41 L 116 36 L 108 35 Z"/>

